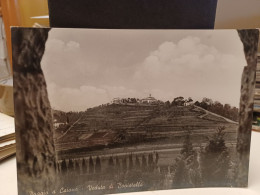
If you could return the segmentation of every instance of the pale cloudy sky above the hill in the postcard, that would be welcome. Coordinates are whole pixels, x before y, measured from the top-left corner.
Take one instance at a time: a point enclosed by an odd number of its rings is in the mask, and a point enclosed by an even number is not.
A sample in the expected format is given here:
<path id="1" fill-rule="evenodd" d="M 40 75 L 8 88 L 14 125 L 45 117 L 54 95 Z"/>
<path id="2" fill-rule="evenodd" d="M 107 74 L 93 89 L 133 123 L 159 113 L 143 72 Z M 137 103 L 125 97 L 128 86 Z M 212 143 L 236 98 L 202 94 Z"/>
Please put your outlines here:
<path id="1" fill-rule="evenodd" d="M 246 61 L 235 30 L 52 29 L 42 59 L 51 106 L 115 97 L 208 97 L 238 107 Z"/>

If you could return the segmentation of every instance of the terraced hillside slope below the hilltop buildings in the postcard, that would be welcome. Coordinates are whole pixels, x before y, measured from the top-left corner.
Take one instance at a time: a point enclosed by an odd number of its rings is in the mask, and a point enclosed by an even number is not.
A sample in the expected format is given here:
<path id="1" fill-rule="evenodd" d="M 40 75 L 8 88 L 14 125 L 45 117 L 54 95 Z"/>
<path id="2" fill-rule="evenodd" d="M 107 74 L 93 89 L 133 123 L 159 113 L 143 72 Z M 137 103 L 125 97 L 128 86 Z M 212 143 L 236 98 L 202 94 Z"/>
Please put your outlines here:
<path id="1" fill-rule="evenodd" d="M 66 113 L 63 113 L 63 116 Z M 54 115 L 62 123 L 55 132 L 60 159 L 66 156 L 134 153 L 180 148 L 190 133 L 194 146 L 207 141 L 219 126 L 225 126 L 226 143 L 236 141 L 237 123 L 196 106 L 111 104 Z M 63 118 L 63 119 L 62 119 Z"/>

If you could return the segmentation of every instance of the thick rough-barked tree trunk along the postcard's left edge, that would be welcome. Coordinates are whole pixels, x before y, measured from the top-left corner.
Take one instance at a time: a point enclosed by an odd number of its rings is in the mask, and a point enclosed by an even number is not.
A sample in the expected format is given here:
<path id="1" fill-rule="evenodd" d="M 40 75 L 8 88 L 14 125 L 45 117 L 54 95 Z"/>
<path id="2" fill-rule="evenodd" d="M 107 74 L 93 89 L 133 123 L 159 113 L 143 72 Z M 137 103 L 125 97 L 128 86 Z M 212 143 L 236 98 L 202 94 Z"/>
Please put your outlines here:
<path id="1" fill-rule="evenodd" d="M 49 30 L 12 29 L 16 143 L 21 146 L 16 153 L 20 194 L 47 191 L 57 183 L 53 118 L 41 69 Z"/>

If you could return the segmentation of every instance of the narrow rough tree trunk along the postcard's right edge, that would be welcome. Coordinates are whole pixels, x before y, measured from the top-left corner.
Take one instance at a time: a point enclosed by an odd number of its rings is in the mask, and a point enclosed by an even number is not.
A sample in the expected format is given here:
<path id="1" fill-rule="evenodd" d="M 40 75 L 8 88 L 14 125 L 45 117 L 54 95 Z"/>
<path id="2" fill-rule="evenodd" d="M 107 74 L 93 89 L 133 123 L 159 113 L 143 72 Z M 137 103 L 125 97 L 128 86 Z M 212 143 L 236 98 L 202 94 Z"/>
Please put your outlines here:
<path id="1" fill-rule="evenodd" d="M 252 131 L 252 115 L 254 104 L 255 71 L 257 61 L 257 50 L 259 40 L 259 30 L 239 30 L 239 37 L 244 45 L 245 59 L 247 66 L 243 70 L 241 79 L 241 96 L 239 110 L 239 127 L 237 137 L 237 152 L 240 162 L 238 164 L 237 178 L 238 186 L 247 186 L 250 139 Z"/>

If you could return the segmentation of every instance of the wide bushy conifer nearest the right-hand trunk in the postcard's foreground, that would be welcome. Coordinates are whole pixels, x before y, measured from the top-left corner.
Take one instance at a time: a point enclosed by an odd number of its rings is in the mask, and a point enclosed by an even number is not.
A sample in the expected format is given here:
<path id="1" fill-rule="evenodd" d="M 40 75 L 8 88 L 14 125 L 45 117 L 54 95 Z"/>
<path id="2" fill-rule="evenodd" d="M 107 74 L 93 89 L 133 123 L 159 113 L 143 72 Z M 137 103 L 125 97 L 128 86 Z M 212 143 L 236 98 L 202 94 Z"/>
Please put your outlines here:
<path id="1" fill-rule="evenodd" d="M 201 171 L 204 186 L 227 185 L 230 156 L 224 140 L 225 127 L 219 127 L 201 151 Z"/>

